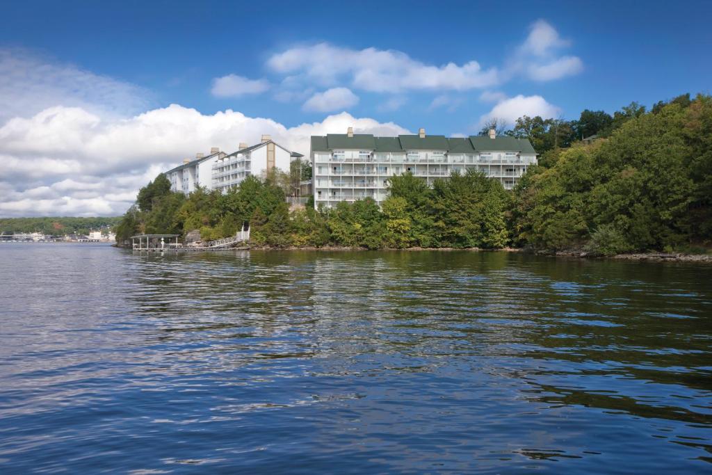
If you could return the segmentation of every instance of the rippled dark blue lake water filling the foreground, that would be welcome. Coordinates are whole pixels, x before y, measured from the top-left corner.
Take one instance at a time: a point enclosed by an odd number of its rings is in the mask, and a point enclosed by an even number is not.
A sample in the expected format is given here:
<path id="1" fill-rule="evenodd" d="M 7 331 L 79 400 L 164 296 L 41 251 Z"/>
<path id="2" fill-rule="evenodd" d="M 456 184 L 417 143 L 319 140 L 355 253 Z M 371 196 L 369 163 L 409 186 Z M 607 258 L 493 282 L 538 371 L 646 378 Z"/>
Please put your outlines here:
<path id="1" fill-rule="evenodd" d="M 712 472 L 712 266 L 0 245 L 0 472 Z"/>

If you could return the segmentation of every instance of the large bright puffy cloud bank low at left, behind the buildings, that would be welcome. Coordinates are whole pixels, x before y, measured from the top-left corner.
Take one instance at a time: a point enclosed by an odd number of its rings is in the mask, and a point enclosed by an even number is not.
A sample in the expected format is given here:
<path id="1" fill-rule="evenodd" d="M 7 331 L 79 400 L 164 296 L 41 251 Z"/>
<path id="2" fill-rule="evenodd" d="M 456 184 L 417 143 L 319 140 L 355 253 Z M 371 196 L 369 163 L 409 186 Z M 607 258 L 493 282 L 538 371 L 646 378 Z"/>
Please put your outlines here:
<path id="1" fill-rule="evenodd" d="M 280 145 L 308 155 L 310 135 L 349 126 L 377 135 L 408 133 L 392 122 L 348 113 L 286 127 L 234 110 L 205 115 L 180 105 L 125 119 L 48 108 L 0 127 L 0 216 L 122 214 L 140 187 L 195 152 L 233 152 L 240 142 L 271 134 Z"/>

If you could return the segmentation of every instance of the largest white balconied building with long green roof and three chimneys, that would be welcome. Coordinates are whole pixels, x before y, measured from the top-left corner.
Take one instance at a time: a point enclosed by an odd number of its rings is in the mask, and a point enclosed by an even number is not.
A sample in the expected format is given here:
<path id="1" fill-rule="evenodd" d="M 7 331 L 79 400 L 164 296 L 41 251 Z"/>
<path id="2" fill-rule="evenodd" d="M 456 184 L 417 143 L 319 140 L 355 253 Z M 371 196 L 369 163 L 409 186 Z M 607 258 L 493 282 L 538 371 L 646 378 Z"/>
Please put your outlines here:
<path id="1" fill-rule="evenodd" d="M 466 138 L 426 136 L 424 129 L 418 135 L 374 137 L 349 127 L 346 134 L 313 135 L 310 156 L 315 207 L 366 197 L 380 204 L 388 196 L 389 177 L 407 172 L 431 185 L 451 172 L 476 169 L 512 189 L 537 163 L 528 140 L 496 137 L 494 130 Z"/>

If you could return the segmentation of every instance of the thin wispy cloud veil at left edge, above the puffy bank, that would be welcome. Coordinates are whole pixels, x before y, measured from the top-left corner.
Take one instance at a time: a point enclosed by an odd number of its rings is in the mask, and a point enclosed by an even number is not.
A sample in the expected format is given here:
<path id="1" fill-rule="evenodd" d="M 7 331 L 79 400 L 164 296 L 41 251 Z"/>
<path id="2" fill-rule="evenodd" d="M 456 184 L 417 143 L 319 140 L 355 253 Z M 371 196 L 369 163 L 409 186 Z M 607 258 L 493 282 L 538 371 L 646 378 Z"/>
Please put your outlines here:
<path id="1" fill-rule="evenodd" d="M 136 85 L 90 73 L 19 48 L 0 48 L 0 122 L 53 105 L 125 115 L 150 107 L 151 94 Z"/>

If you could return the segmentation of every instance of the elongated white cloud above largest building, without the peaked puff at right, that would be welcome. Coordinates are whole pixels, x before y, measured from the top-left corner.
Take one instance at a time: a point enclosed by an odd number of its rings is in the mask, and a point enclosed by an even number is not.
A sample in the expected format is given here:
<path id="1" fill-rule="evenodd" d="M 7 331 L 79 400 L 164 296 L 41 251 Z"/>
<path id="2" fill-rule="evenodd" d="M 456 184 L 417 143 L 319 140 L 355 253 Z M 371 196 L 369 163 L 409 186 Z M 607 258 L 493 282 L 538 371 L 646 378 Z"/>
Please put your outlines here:
<path id="1" fill-rule="evenodd" d="M 483 70 L 477 61 L 459 66 L 429 65 L 402 51 L 340 48 L 330 43 L 297 46 L 273 55 L 268 66 L 276 73 L 303 75 L 320 85 L 346 80 L 352 87 L 372 92 L 404 90 L 468 90 L 498 82 L 496 68 Z"/>

